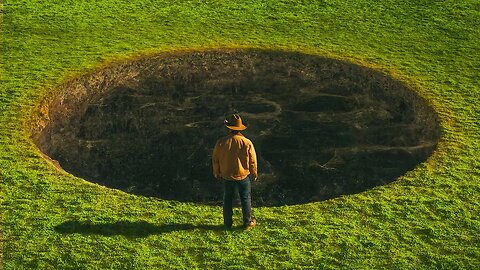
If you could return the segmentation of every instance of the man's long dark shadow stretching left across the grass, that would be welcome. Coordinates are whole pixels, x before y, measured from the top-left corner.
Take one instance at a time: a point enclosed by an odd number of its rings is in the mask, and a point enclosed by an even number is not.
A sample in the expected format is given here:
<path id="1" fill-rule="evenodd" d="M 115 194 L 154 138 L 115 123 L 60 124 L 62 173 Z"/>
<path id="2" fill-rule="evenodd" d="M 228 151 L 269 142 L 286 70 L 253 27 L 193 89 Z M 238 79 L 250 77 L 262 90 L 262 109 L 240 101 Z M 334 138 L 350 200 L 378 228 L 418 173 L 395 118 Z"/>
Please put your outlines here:
<path id="1" fill-rule="evenodd" d="M 233 228 L 235 230 L 237 228 Z M 205 230 L 227 231 L 223 225 L 193 225 L 193 224 L 164 224 L 154 225 L 146 221 L 127 222 L 119 221 L 105 224 L 90 222 L 67 221 L 55 226 L 55 231 L 61 234 L 98 234 L 104 236 L 123 235 L 126 237 L 146 237 L 153 234 L 163 234 L 173 231 Z"/>

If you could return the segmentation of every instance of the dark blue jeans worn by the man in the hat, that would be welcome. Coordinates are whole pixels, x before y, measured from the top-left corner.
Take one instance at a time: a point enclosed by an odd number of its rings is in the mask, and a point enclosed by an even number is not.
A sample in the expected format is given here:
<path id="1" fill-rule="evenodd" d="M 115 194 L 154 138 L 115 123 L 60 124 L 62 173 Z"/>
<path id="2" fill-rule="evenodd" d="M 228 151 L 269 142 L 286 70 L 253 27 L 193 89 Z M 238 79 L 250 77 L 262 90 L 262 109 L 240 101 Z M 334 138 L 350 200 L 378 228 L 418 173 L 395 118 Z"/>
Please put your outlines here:
<path id="1" fill-rule="evenodd" d="M 235 190 L 238 190 L 240 201 L 242 203 L 243 225 L 248 225 L 252 221 L 252 199 L 250 196 L 252 189 L 252 180 L 247 176 L 243 180 L 224 180 L 225 192 L 223 194 L 223 224 L 231 227 L 233 224 L 233 196 Z"/>

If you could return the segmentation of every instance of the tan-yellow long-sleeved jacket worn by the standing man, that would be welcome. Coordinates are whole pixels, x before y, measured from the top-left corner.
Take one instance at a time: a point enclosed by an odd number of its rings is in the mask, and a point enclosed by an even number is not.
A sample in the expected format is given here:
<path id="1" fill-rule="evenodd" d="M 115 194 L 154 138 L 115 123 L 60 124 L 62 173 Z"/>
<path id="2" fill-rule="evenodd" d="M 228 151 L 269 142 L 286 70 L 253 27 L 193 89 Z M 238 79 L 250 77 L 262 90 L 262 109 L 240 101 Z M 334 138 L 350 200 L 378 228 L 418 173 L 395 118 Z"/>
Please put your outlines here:
<path id="1" fill-rule="evenodd" d="M 252 141 L 232 133 L 217 141 L 212 154 L 213 175 L 226 180 L 257 180 L 257 154 Z"/>

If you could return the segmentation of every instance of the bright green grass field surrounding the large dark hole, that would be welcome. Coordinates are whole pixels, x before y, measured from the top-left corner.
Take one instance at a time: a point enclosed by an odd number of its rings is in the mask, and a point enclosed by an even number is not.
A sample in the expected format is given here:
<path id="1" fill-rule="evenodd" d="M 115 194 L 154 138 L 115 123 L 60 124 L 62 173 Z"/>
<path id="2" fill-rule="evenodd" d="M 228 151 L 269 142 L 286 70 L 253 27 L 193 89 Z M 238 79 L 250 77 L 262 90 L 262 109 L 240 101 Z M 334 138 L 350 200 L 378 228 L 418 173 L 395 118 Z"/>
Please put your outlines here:
<path id="1" fill-rule="evenodd" d="M 0 7 L 5 269 L 480 268 L 478 1 L 6 0 Z M 256 208 L 259 226 L 244 232 L 218 227 L 220 207 L 133 196 L 58 171 L 30 141 L 35 105 L 62 81 L 142 53 L 212 47 L 302 51 L 390 73 L 439 113 L 438 150 L 387 186 Z"/>

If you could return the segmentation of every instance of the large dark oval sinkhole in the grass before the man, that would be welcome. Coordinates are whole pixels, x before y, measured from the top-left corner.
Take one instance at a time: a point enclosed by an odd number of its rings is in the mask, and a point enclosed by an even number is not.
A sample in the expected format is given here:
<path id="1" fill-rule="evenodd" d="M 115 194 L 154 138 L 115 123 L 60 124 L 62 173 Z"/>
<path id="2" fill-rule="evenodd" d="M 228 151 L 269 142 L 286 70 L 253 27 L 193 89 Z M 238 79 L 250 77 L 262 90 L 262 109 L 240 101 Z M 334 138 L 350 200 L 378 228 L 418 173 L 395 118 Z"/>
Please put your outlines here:
<path id="1" fill-rule="evenodd" d="M 237 111 L 255 144 L 254 205 L 298 204 L 394 181 L 433 152 L 435 112 L 355 64 L 268 50 L 175 52 L 60 86 L 33 139 L 66 171 L 144 196 L 219 203 L 211 153 Z"/>

